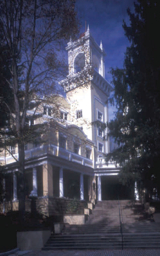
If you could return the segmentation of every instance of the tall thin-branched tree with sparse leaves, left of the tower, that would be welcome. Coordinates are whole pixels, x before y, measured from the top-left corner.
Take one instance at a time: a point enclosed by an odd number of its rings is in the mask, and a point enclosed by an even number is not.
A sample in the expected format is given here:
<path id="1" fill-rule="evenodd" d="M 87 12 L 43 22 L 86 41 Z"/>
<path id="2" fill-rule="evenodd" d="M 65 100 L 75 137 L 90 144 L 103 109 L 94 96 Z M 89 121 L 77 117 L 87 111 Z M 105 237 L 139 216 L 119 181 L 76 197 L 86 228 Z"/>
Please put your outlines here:
<path id="1" fill-rule="evenodd" d="M 14 96 L 14 113 L 5 102 L 12 120 L 12 132 L 5 137 L 5 143 L 18 144 L 21 185 L 19 210 L 22 216 L 25 210 L 24 147 L 27 110 L 32 97 L 35 102 L 32 107 L 37 107 L 41 96 L 51 94 L 57 76 L 64 73 L 64 60 L 59 50 L 66 39 L 77 33 L 74 7 L 74 0 L 0 1 L 1 43 L 7 46 L 10 56 L 11 78 L 7 82 Z M 36 118 L 35 112 L 33 118 Z"/>

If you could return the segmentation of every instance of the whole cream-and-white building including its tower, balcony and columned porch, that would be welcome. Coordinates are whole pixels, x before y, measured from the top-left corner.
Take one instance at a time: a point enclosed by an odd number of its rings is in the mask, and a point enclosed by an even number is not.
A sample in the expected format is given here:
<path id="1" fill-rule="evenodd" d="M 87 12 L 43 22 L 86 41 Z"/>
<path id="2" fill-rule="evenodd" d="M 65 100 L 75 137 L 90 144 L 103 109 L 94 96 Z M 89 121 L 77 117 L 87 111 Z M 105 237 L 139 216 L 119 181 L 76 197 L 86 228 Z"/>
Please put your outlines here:
<path id="1" fill-rule="evenodd" d="M 65 202 L 117 199 L 119 168 L 105 162 L 109 141 L 107 99 L 113 87 L 104 78 L 105 51 L 94 41 L 89 28 L 77 41 L 67 44 L 68 76 L 60 82 L 66 98 L 57 96 L 59 118 L 43 106 L 48 120 L 46 143 L 26 145 L 26 207 L 31 196 L 47 215 L 61 214 Z M 92 123 L 97 122 L 98 125 Z M 14 156 L 18 155 L 17 148 Z M 8 198 L 0 211 L 18 208 L 18 168 L 12 155 L 1 155 L 5 165 L 4 189 Z M 57 210 L 55 210 L 57 209 Z"/>

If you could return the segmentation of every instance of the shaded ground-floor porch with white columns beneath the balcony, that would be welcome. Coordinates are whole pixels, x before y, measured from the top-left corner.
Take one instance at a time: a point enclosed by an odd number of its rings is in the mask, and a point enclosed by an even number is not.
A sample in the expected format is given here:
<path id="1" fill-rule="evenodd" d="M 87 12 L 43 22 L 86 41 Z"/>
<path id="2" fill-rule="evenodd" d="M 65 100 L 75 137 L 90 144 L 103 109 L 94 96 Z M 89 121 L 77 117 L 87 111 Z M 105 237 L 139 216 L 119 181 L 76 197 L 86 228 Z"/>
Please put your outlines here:
<path id="1" fill-rule="evenodd" d="M 85 162 L 83 161 L 83 163 Z M 13 184 L 8 199 L 10 202 L 16 203 L 18 209 L 19 180 L 17 174 L 16 169 L 13 171 L 6 170 L 3 183 L 4 189 L 8 190 L 8 194 L 10 182 L 6 182 L 6 180 L 9 178 Z M 93 175 L 91 167 L 54 155 L 46 155 L 41 158 L 41 161 L 38 157 L 34 160 L 28 160 L 25 168 L 26 198 L 36 197 L 39 202 L 42 199 L 51 200 L 52 198 L 77 198 L 80 201 L 88 201 L 88 193 L 92 190 L 91 175 Z M 10 207 L 11 205 L 10 203 Z M 9 211 L 10 207 L 4 207 L 2 211 Z M 52 214 L 52 210 L 49 211 Z"/>

